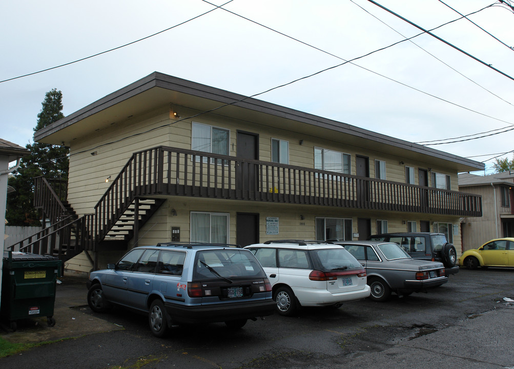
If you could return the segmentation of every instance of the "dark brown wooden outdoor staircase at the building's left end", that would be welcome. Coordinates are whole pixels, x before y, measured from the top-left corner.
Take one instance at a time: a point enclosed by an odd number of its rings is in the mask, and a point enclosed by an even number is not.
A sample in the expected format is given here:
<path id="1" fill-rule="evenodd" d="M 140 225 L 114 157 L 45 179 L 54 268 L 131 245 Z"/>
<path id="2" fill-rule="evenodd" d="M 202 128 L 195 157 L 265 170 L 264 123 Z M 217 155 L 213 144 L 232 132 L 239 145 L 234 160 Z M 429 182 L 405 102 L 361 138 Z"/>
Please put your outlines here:
<path id="1" fill-rule="evenodd" d="M 127 165 L 133 161 L 134 157 Z M 10 246 L 9 250 L 53 255 L 63 262 L 83 251 L 97 251 L 107 245 L 116 244 L 117 249 L 126 249 L 128 241 L 134 237 L 137 245 L 139 229 L 166 201 L 138 196 L 135 188 L 124 192 L 121 198 L 118 176 L 98 201 L 95 213 L 79 217 L 65 199 L 67 192 L 63 181 L 49 181 L 44 177 L 34 181 L 34 207 L 43 211 L 44 223 L 50 225 Z M 97 263 L 94 264 L 96 269 Z"/>

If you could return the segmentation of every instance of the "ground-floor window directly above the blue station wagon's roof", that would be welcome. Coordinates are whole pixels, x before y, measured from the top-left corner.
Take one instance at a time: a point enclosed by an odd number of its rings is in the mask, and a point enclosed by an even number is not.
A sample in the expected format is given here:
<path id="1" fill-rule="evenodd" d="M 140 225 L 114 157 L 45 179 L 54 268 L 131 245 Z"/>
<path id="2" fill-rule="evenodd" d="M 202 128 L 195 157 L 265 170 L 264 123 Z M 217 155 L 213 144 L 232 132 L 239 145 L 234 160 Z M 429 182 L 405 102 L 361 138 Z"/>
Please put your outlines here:
<path id="1" fill-rule="evenodd" d="M 191 242 L 228 244 L 229 214 L 191 212 Z"/>

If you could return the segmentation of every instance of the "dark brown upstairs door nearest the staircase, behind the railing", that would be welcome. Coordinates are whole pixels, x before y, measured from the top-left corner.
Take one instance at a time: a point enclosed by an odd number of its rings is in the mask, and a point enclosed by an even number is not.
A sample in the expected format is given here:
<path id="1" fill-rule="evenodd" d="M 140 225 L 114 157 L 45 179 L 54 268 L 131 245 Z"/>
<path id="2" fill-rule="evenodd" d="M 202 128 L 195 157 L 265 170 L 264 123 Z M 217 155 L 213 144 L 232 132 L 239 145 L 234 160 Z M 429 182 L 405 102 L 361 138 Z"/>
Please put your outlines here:
<path id="1" fill-rule="evenodd" d="M 241 159 L 259 159 L 259 135 L 237 132 L 236 156 Z M 243 197 L 249 192 L 255 194 L 257 189 L 257 167 L 251 163 L 238 163 L 236 167 L 236 190 L 242 191 Z"/>

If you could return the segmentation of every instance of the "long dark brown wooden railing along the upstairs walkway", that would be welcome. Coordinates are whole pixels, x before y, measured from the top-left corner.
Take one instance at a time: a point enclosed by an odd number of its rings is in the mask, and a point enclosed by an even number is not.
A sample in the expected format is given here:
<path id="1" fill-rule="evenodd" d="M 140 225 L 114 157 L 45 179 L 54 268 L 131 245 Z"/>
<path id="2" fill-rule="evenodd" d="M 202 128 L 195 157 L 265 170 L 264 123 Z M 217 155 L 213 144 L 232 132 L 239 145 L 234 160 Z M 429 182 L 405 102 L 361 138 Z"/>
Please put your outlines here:
<path id="1" fill-rule="evenodd" d="M 95 206 L 97 229 L 106 233 L 135 197 L 152 195 L 482 215 L 475 194 L 159 146 L 134 153 L 115 178 Z"/>

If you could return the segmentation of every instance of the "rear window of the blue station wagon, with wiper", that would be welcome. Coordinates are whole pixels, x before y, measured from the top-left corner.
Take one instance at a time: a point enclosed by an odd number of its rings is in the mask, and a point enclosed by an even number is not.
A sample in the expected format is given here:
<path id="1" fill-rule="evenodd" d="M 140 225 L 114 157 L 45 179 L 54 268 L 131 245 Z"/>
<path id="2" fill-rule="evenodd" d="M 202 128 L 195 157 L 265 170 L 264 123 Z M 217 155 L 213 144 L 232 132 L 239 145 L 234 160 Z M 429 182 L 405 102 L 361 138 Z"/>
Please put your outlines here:
<path id="1" fill-rule="evenodd" d="M 203 250 L 196 253 L 194 281 L 265 276 L 261 265 L 248 250 Z"/>

